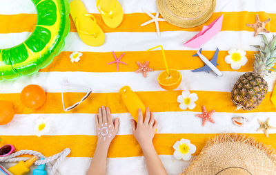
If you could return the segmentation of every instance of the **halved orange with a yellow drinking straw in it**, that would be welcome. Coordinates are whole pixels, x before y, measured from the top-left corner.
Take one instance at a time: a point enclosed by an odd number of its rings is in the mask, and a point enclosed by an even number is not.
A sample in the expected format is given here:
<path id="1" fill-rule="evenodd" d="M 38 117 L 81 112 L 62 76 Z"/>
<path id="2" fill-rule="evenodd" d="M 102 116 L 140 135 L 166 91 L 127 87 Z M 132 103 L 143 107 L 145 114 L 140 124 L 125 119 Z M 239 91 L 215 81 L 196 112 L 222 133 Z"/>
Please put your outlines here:
<path id="1" fill-rule="evenodd" d="M 166 90 L 176 89 L 181 83 L 181 73 L 175 69 L 169 69 L 170 76 L 168 76 L 167 71 L 161 72 L 157 80 L 159 85 Z"/>

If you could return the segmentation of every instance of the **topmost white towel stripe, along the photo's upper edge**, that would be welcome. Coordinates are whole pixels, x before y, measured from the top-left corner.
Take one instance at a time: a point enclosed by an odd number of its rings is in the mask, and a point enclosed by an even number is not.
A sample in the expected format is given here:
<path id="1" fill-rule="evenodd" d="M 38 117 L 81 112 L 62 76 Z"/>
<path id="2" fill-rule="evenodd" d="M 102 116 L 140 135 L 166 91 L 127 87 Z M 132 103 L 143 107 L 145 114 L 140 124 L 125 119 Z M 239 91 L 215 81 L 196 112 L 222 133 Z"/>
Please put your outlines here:
<path id="1" fill-rule="evenodd" d="M 70 0 L 72 1 L 72 0 Z M 99 13 L 96 8 L 96 1 L 82 0 L 90 13 Z M 156 1 L 154 0 L 118 0 L 123 7 L 124 13 L 143 12 L 144 8 L 149 12 L 157 12 Z M 239 12 L 239 11 L 265 11 L 274 13 L 274 0 L 219 0 L 215 12 Z M 0 14 L 13 15 L 19 13 L 36 13 L 34 5 L 30 0 L 1 0 Z"/>

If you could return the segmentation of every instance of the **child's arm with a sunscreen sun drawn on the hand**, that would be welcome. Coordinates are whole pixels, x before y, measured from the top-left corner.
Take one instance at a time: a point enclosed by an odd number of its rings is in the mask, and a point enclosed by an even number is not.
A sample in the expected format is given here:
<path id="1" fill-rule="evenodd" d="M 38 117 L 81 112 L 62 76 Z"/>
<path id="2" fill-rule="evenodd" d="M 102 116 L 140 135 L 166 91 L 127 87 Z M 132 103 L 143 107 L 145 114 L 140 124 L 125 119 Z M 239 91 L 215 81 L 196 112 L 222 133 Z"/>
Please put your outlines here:
<path id="1" fill-rule="evenodd" d="M 88 175 L 105 175 L 108 148 L 118 132 L 119 118 L 115 118 L 113 122 L 110 109 L 108 107 L 101 107 L 99 114 L 95 116 L 95 126 L 98 142 L 91 165 L 88 169 Z"/>

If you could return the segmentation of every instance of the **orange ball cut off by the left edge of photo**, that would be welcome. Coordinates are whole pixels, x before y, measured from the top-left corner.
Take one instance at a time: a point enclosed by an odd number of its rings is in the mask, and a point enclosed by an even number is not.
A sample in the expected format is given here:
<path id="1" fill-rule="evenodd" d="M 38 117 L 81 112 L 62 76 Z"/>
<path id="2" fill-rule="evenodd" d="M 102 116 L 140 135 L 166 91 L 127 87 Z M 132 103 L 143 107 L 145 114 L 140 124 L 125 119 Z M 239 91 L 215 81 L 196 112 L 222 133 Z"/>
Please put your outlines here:
<path id="1" fill-rule="evenodd" d="M 12 121 L 14 113 L 12 102 L 0 101 L 0 125 L 6 125 Z"/>

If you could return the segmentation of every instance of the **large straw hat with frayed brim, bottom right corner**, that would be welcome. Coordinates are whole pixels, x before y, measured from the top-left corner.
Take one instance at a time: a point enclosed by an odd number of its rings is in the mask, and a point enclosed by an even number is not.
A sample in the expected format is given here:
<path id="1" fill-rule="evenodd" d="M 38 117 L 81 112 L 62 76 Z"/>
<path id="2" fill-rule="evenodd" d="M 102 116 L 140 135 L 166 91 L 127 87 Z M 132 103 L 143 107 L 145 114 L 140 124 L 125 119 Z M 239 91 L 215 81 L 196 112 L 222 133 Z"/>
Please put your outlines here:
<path id="1" fill-rule="evenodd" d="M 221 134 L 209 140 L 181 175 L 276 174 L 273 149 L 242 134 Z"/>

